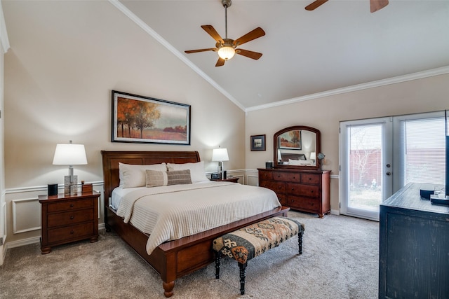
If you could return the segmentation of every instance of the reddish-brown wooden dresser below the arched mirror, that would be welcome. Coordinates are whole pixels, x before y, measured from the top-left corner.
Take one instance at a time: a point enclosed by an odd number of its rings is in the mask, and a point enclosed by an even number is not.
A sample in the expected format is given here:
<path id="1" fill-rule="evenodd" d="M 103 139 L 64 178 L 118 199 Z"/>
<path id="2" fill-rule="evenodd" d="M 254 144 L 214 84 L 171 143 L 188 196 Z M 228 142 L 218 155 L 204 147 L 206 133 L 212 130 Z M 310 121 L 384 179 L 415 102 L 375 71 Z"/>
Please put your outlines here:
<path id="1" fill-rule="evenodd" d="M 259 186 L 276 192 L 283 206 L 323 218 L 330 212 L 330 170 L 259 168 Z"/>

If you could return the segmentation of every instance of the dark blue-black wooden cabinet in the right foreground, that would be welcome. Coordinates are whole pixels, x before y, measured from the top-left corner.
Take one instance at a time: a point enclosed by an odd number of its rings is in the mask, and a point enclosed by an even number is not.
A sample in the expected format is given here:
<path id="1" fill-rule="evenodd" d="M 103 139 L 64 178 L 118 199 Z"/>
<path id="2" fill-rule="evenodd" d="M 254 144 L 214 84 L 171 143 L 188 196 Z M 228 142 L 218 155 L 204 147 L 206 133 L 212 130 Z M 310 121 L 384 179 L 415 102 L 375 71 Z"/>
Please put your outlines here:
<path id="1" fill-rule="evenodd" d="M 380 205 L 379 298 L 449 298 L 449 207 L 422 199 L 420 186 Z"/>

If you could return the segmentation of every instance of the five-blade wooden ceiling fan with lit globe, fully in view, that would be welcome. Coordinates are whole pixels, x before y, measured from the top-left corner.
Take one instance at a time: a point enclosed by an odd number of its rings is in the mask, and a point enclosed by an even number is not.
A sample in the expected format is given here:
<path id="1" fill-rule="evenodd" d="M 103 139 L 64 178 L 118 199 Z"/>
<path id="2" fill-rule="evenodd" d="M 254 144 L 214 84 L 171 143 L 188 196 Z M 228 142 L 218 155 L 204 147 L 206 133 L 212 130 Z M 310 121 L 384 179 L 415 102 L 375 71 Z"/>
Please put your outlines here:
<path id="1" fill-rule="evenodd" d="M 218 61 L 215 64 L 215 67 L 222 67 L 225 65 L 227 60 L 230 60 L 234 57 L 235 54 L 243 55 L 253 60 L 258 60 L 262 57 L 262 53 L 253 52 L 250 50 L 243 50 L 237 48 L 238 46 L 243 45 L 243 43 L 248 43 L 248 41 L 253 41 L 253 39 L 258 39 L 261 36 L 265 35 L 265 32 L 262 28 L 257 27 L 251 32 L 239 37 L 239 39 L 228 39 L 227 38 L 227 8 L 231 6 L 232 0 L 222 0 L 222 5 L 225 7 L 225 33 L 226 38 L 222 39 L 220 34 L 214 29 L 212 25 L 202 25 L 201 28 L 204 29 L 210 36 L 212 36 L 217 43 L 215 43 L 215 48 L 206 48 L 206 49 L 198 49 L 198 50 L 187 50 L 185 53 L 198 53 L 198 52 L 206 52 L 206 51 L 214 51 L 218 53 Z"/>

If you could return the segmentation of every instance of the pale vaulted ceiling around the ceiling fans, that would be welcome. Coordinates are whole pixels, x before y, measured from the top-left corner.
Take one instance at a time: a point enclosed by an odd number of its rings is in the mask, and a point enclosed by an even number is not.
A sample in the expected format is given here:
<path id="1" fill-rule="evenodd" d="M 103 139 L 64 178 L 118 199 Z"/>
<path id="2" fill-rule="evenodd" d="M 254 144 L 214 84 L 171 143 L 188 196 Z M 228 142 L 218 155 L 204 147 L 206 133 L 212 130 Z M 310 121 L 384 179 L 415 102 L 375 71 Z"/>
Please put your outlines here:
<path id="1" fill-rule="evenodd" d="M 215 67 L 213 51 L 184 52 L 215 47 L 201 25 L 225 37 L 221 0 L 112 4 L 242 109 L 449 72 L 448 0 L 390 0 L 375 13 L 369 0 L 330 0 L 306 11 L 312 1 L 232 1 L 228 37 L 256 27 L 266 35 L 241 46 L 263 53 L 259 60 L 236 55 L 223 67 Z"/>

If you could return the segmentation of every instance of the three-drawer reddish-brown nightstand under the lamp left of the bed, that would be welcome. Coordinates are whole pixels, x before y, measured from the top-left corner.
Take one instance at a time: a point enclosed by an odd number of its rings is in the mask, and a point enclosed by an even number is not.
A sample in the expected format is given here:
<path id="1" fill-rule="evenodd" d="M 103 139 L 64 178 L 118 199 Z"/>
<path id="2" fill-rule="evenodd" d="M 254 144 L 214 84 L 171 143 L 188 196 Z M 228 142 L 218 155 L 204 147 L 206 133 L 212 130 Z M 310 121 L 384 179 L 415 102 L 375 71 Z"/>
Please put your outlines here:
<path id="1" fill-rule="evenodd" d="M 81 239 L 98 240 L 98 198 L 100 193 L 39 195 L 42 212 L 41 253 L 51 247 Z"/>

